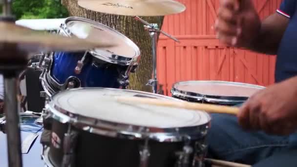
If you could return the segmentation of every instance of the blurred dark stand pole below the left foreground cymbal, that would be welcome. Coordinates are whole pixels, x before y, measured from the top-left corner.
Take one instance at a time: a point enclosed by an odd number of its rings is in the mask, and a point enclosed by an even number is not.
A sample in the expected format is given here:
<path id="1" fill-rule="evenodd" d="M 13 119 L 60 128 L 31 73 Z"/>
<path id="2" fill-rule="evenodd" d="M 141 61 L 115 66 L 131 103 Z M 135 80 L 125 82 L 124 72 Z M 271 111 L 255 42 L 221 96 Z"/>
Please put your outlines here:
<path id="1" fill-rule="evenodd" d="M 4 74 L 4 112 L 9 167 L 22 167 L 19 103 L 17 99 L 19 80 L 17 76 Z"/>

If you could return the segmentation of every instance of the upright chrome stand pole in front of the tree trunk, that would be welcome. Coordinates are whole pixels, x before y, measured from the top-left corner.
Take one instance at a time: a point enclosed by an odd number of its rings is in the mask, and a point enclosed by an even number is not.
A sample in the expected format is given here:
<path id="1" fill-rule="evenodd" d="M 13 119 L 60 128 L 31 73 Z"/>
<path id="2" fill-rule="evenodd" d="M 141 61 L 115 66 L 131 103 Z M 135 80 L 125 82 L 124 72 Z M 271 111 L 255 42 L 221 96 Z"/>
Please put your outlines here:
<path id="1" fill-rule="evenodd" d="M 153 93 L 158 92 L 158 80 L 157 80 L 157 38 L 158 33 L 155 31 L 149 32 L 150 38 L 152 40 L 152 91 Z"/>

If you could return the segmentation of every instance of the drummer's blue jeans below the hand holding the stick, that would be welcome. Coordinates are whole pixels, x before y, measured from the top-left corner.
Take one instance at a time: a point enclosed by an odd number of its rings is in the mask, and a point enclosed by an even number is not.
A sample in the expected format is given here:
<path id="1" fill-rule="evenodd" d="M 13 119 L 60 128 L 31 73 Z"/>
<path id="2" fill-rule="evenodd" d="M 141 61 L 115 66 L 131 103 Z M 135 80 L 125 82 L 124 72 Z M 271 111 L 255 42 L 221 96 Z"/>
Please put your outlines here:
<path id="1" fill-rule="evenodd" d="M 267 163 L 274 160 L 285 161 L 282 163 L 283 167 L 291 167 L 289 165 L 297 162 L 297 134 L 271 136 L 261 131 L 247 132 L 238 125 L 235 116 L 228 114 L 212 114 L 212 126 L 207 142 L 209 158 L 249 165 L 264 164 L 257 167 L 272 167 Z M 292 150 L 294 153 L 290 155 L 294 154 L 295 156 L 291 158 L 284 156 Z M 287 159 L 272 158 L 267 160 L 265 165 L 267 158 L 276 155 Z M 284 163 L 288 163 L 288 165 Z M 297 164 L 292 167 L 297 167 Z"/>

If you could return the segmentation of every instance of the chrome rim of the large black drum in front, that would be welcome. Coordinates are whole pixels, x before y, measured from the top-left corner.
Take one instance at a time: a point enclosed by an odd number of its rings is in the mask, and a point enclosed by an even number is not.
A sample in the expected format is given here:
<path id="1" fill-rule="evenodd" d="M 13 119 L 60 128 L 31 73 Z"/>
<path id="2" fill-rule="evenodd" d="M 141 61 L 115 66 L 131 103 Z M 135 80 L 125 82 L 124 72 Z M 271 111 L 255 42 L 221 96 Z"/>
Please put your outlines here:
<path id="1" fill-rule="evenodd" d="M 75 91 L 75 90 L 85 90 L 85 89 L 94 89 L 90 87 L 86 88 L 76 88 L 68 89 L 64 91 Z M 108 89 L 108 90 L 122 90 L 115 88 L 101 88 L 96 87 L 95 89 Z M 158 94 L 141 92 L 135 90 L 122 90 L 135 93 L 142 93 L 154 96 L 162 96 Z M 57 93 L 55 94 L 57 95 Z M 51 102 L 45 107 L 50 113 L 50 116 L 60 123 L 69 123 L 75 126 L 78 129 L 95 133 L 103 136 L 114 137 L 114 138 L 123 138 L 129 140 L 140 140 L 140 139 L 151 139 L 158 142 L 181 142 L 185 138 L 190 139 L 200 139 L 206 136 L 207 131 L 210 127 L 211 116 L 203 112 L 208 116 L 208 122 L 202 125 L 195 126 L 186 126 L 186 127 L 172 127 L 172 128 L 158 128 L 158 127 L 148 127 L 148 126 L 139 126 L 139 125 L 128 125 L 122 123 L 114 123 L 110 121 L 104 121 L 100 119 L 90 118 L 82 116 L 79 114 L 73 114 L 70 111 L 64 110 L 62 107 L 56 105 L 53 101 L 55 95 L 51 97 Z M 171 97 L 165 97 L 166 99 L 171 99 L 173 101 L 181 101 Z"/>

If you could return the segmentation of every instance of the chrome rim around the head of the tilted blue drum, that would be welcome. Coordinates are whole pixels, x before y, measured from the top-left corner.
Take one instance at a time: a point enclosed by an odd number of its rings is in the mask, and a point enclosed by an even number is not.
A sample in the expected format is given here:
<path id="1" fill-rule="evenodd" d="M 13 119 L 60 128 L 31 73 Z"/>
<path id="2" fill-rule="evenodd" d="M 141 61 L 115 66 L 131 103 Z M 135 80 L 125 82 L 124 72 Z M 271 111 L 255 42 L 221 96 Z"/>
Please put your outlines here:
<path id="1" fill-rule="evenodd" d="M 89 23 L 97 28 L 103 28 L 103 29 L 106 29 L 108 31 L 111 31 L 112 33 L 115 33 L 117 35 L 119 35 L 125 42 L 127 42 L 127 44 L 129 46 L 131 46 L 133 48 L 133 50 L 135 51 L 135 56 L 132 57 L 132 58 L 127 58 L 125 56 L 121 56 L 121 55 L 113 55 L 113 54 L 110 54 L 108 56 L 105 56 L 105 55 L 99 55 L 94 49 L 89 49 L 89 53 L 96 57 L 96 58 L 99 58 L 103 61 L 106 61 L 108 63 L 114 63 L 114 64 L 120 64 L 120 65 L 135 65 L 139 62 L 139 58 L 141 56 L 141 52 L 140 52 L 140 49 L 139 47 L 132 41 L 130 40 L 129 38 L 127 38 L 124 34 L 116 31 L 115 29 L 111 28 L 111 27 L 108 27 L 107 25 L 105 24 L 102 24 L 102 23 L 99 23 L 99 22 L 96 22 L 96 21 L 92 21 L 92 20 L 89 20 L 89 19 L 85 19 L 85 18 L 80 18 L 80 17 L 68 17 L 64 20 L 64 23 L 61 24 L 60 28 L 63 30 L 63 34 L 68 36 L 68 37 L 72 37 L 72 36 L 75 36 L 74 34 L 71 33 L 71 31 L 67 28 L 67 23 L 69 21 L 81 21 L 81 22 L 85 22 L 85 23 Z"/>

